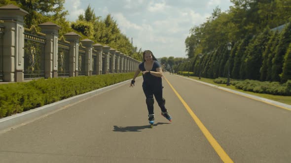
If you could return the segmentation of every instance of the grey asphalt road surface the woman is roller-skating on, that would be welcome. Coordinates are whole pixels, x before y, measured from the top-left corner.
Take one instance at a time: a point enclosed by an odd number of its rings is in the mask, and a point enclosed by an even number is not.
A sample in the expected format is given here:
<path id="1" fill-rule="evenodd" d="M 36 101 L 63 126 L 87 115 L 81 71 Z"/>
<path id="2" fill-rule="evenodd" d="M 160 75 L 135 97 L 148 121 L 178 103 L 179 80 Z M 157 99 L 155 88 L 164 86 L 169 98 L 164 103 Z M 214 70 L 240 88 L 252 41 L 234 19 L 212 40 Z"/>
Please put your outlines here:
<path id="1" fill-rule="evenodd" d="M 290 163 L 291 111 L 165 73 L 169 122 L 142 79 L 0 132 L 0 163 Z"/>

